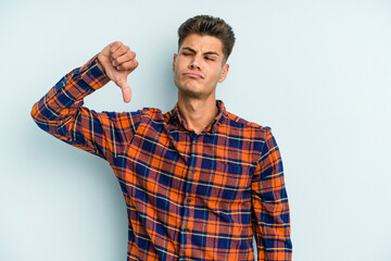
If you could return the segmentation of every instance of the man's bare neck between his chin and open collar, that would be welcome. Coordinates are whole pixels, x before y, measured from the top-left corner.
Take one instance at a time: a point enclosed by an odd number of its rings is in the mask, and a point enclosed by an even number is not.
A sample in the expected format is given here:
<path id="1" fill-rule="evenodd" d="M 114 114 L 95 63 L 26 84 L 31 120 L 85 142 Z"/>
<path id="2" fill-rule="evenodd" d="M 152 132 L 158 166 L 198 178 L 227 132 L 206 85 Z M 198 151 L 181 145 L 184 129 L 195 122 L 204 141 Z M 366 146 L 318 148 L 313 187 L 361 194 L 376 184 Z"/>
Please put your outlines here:
<path id="1" fill-rule="evenodd" d="M 178 95 L 178 108 L 180 115 L 197 134 L 200 134 L 218 113 L 215 96 L 200 100 Z"/>

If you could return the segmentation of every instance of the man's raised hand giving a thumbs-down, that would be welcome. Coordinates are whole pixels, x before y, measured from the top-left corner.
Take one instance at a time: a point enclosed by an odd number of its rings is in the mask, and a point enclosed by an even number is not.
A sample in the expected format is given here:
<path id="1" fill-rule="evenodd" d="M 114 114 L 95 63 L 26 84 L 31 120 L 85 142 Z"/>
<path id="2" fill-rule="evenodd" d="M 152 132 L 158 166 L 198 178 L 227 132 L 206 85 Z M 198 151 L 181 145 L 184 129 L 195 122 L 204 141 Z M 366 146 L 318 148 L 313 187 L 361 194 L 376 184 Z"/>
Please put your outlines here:
<path id="1" fill-rule="evenodd" d="M 122 89 L 124 101 L 129 102 L 131 90 L 127 76 L 138 66 L 136 53 L 128 46 L 114 41 L 98 54 L 98 65 Z"/>

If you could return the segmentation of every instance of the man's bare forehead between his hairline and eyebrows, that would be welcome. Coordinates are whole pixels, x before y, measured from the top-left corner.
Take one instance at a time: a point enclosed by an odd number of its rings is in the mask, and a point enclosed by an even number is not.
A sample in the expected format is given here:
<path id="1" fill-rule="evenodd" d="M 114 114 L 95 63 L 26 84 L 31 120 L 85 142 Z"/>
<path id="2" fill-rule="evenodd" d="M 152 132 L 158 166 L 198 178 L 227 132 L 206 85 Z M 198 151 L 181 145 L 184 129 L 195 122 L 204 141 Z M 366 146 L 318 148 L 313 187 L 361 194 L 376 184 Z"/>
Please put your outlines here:
<path id="1" fill-rule="evenodd" d="M 201 36 L 198 34 L 188 35 L 179 50 L 184 48 L 191 48 L 197 52 L 217 52 L 223 54 L 223 42 L 220 39 L 214 36 Z"/>

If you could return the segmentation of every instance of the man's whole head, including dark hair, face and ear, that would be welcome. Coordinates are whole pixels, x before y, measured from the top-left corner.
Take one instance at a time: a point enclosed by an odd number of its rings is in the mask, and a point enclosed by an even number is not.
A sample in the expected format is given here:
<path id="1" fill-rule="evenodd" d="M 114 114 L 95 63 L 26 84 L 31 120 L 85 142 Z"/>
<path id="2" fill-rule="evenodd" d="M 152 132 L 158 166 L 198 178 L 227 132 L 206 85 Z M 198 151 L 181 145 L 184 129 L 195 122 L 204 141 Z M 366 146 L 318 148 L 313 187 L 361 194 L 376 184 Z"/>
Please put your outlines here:
<path id="1" fill-rule="evenodd" d="M 178 53 L 174 54 L 174 82 L 179 97 L 214 100 L 217 83 L 227 77 L 232 51 L 232 28 L 223 20 L 199 15 L 178 29 Z"/>

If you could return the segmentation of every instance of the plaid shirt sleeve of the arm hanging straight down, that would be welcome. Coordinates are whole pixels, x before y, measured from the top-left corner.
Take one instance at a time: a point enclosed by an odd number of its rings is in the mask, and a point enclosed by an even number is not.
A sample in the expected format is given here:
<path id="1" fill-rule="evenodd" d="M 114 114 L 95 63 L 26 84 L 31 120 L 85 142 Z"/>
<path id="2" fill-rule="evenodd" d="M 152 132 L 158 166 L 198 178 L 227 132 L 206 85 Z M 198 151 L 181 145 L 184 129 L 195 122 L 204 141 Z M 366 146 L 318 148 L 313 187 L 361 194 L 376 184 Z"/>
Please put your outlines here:
<path id="1" fill-rule="evenodd" d="M 270 128 L 266 129 L 265 144 L 251 184 L 257 260 L 290 261 L 292 244 L 282 161 Z"/>

